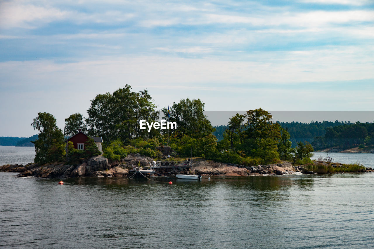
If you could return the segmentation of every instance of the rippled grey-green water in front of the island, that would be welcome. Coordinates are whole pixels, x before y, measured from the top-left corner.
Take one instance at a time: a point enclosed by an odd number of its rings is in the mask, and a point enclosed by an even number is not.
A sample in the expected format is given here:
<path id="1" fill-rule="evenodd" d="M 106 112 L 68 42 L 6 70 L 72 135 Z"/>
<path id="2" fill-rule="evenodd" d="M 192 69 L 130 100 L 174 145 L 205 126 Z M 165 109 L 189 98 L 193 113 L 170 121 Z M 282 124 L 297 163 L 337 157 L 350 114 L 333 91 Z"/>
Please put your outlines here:
<path id="1" fill-rule="evenodd" d="M 0 173 L 6 248 L 371 248 L 374 174 L 14 178 Z M 30 233 L 30 231 L 33 231 Z"/>

